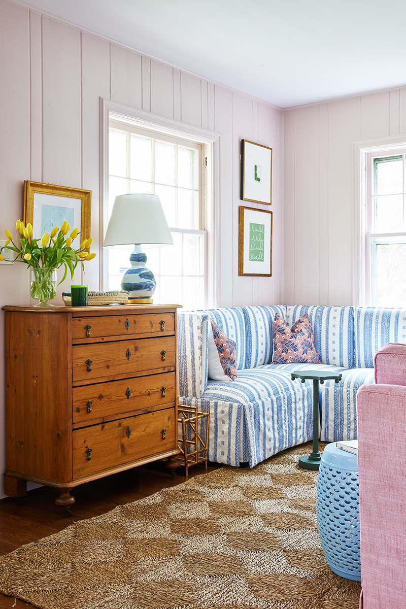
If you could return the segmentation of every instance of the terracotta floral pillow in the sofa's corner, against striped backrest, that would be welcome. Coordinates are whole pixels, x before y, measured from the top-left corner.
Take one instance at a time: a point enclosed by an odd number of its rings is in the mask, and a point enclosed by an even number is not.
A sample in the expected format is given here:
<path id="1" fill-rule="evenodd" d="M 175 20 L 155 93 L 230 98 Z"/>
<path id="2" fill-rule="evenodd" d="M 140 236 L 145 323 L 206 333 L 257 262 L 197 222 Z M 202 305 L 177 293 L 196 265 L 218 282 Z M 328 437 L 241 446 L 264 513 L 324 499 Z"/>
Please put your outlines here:
<path id="1" fill-rule="evenodd" d="M 272 333 L 272 364 L 321 364 L 314 347 L 313 330 L 307 313 L 292 328 L 289 328 L 282 315 L 276 313 Z"/>

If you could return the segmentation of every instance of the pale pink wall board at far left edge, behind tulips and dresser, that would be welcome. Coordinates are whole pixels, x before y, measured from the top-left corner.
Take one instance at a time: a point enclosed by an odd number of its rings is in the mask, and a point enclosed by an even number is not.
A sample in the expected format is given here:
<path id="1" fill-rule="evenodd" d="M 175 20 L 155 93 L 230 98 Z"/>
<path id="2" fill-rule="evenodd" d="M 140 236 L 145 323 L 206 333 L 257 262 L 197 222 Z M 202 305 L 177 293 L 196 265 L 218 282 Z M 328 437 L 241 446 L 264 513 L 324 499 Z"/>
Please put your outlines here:
<path id="1" fill-rule="evenodd" d="M 0 239 L 23 217 L 23 180 L 30 176 L 29 10 L 0 0 Z M 0 266 L 0 308 L 29 303 L 29 272 L 21 262 Z M 4 388 L 4 323 L 0 323 L 0 387 Z M 4 390 L 0 393 L 0 471 L 5 470 Z M 3 476 L 0 476 L 0 496 Z"/>

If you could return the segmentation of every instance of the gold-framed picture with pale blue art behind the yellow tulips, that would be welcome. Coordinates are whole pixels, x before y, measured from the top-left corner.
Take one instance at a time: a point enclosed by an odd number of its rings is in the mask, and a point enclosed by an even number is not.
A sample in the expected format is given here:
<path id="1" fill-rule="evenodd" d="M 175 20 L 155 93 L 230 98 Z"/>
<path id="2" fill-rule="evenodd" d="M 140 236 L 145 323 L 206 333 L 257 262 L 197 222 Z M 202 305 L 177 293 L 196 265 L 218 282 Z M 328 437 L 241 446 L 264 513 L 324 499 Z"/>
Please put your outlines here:
<path id="1" fill-rule="evenodd" d="M 33 238 L 51 233 L 68 221 L 71 230 L 80 228 L 80 241 L 90 238 L 92 191 L 24 180 L 24 224 L 30 222 Z"/>

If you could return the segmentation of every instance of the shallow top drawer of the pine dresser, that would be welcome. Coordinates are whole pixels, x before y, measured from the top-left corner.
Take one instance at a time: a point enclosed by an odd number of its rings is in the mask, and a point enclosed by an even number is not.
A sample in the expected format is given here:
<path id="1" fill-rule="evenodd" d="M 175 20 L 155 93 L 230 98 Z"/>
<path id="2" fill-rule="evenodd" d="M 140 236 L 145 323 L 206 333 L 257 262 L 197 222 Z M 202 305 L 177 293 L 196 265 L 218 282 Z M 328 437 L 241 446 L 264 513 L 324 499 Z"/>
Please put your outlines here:
<path id="1" fill-rule="evenodd" d="M 161 323 L 163 322 L 163 323 Z M 93 339 L 150 334 L 152 332 L 173 333 L 175 315 L 173 313 L 146 313 L 144 315 L 106 315 L 105 317 L 74 317 L 72 319 L 72 339 Z"/>

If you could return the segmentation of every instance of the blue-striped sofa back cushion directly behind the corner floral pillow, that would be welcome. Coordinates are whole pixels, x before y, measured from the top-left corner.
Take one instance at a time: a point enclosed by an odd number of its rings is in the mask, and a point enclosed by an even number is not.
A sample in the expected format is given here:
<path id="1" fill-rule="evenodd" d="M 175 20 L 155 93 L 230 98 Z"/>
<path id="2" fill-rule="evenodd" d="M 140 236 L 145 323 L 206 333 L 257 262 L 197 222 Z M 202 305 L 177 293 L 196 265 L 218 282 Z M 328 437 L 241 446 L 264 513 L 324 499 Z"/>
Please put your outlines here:
<path id="1" fill-rule="evenodd" d="M 354 368 L 354 308 L 352 306 L 286 307 L 287 323 L 292 326 L 302 315 L 309 315 L 314 345 L 323 364 Z"/>

